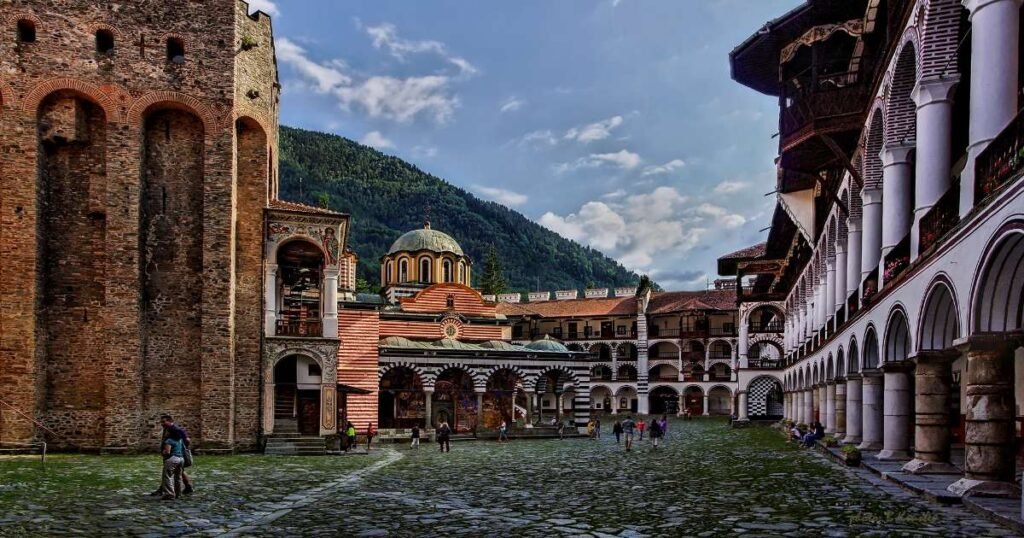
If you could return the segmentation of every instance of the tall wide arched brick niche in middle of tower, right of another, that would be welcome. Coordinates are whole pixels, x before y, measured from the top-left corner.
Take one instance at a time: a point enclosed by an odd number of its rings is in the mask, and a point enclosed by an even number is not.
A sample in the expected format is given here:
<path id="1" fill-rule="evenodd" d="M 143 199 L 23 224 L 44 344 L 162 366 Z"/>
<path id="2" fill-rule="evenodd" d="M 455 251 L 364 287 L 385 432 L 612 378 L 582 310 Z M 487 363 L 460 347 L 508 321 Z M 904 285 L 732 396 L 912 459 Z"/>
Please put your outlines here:
<path id="1" fill-rule="evenodd" d="M 143 391 L 150 409 L 200 424 L 206 129 L 176 101 L 153 104 L 140 119 Z"/>

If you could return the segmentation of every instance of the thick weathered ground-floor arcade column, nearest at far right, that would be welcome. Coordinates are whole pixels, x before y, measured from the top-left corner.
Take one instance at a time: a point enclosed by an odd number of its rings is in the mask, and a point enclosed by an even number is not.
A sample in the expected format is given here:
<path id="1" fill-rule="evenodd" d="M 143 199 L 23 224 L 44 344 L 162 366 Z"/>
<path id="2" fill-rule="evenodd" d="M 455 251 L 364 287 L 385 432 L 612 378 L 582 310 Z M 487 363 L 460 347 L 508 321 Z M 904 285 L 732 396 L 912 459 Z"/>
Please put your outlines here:
<path id="1" fill-rule="evenodd" d="M 948 489 L 959 495 L 1019 493 L 1015 483 L 1013 346 L 997 337 L 977 336 L 956 344 L 967 354 L 966 468 L 964 478 Z"/>

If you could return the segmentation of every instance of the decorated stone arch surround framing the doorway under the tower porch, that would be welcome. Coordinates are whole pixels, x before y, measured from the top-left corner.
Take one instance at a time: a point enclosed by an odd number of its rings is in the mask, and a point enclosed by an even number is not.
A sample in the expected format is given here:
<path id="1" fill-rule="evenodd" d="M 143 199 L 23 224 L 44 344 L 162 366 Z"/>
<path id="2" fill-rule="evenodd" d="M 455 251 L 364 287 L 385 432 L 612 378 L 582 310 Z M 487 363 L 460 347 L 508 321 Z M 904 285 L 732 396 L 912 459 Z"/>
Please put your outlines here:
<path id="1" fill-rule="evenodd" d="M 303 357 L 314 362 L 319 375 L 319 434 L 337 432 L 338 413 L 338 341 L 334 339 L 271 337 L 263 344 L 263 434 L 274 431 L 275 383 L 274 367 L 290 357 Z"/>

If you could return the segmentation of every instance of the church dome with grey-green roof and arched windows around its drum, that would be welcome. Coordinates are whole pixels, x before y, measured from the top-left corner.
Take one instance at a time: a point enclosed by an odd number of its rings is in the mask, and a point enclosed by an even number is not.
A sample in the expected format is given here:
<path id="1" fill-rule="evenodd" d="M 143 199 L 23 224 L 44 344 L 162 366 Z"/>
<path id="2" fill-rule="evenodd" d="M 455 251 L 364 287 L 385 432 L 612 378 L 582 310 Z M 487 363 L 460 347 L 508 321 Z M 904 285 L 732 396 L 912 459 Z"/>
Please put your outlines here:
<path id="1" fill-rule="evenodd" d="M 430 222 L 407 232 L 381 256 L 381 286 L 470 284 L 472 260 L 452 236 Z"/>

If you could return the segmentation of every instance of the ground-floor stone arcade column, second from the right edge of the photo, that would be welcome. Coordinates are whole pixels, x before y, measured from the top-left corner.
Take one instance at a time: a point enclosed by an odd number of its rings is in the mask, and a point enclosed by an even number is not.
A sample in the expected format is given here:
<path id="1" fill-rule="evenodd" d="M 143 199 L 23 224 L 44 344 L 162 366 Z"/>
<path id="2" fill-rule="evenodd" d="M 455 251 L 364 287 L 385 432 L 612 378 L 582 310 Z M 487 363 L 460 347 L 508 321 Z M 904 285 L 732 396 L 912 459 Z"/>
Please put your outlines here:
<path id="1" fill-rule="evenodd" d="M 921 351 L 913 358 L 913 460 L 903 465 L 905 471 L 959 473 L 949 463 L 949 397 L 952 364 L 958 356 L 957 351 Z"/>

